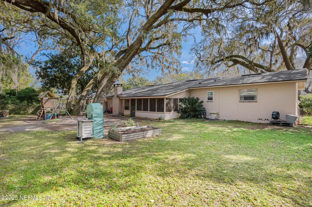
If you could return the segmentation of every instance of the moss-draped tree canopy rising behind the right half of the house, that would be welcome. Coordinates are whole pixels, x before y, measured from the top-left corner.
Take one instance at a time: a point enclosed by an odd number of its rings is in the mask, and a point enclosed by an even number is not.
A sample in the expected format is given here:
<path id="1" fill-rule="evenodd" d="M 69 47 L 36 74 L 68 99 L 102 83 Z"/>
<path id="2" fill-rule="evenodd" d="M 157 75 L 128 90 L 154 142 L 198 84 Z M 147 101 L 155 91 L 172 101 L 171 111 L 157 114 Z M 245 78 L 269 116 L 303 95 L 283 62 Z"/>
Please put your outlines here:
<path id="1" fill-rule="evenodd" d="M 306 9 L 297 1 L 276 0 L 215 17 L 203 26 L 203 39 L 193 47 L 197 66 L 211 72 L 310 69 L 312 14 Z"/>

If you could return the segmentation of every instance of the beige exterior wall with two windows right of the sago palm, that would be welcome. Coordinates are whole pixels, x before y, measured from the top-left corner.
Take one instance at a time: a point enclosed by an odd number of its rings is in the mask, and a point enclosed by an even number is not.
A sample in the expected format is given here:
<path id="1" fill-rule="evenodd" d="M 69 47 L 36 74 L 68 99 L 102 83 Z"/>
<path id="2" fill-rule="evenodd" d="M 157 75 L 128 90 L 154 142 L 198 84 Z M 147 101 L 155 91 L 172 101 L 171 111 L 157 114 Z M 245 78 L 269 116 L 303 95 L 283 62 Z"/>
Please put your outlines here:
<path id="1" fill-rule="evenodd" d="M 239 90 L 253 88 L 257 89 L 257 102 L 240 103 Z M 273 111 L 279 111 L 282 120 L 286 120 L 286 114 L 297 114 L 297 89 L 296 83 L 211 87 L 191 89 L 190 96 L 204 101 L 207 117 L 210 112 L 218 112 L 222 120 L 269 122 Z M 207 91 L 214 91 L 213 102 L 207 102 Z"/>

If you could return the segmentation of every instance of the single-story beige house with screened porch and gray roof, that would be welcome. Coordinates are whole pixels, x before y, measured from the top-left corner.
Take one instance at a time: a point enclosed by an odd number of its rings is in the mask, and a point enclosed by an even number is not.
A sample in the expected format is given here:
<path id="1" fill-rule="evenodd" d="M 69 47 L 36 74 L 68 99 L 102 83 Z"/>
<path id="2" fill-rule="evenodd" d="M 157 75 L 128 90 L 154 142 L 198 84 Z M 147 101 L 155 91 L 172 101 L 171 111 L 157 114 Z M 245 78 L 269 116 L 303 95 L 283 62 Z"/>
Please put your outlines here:
<path id="1" fill-rule="evenodd" d="M 307 69 L 255 73 L 236 77 L 208 78 L 163 85 L 151 85 L 122 91 L 114 85 L 104 108 L 113 114 L 165 120 L 178 115 L 179 99 L 199 97 L 204 101 L 206 117 L 221 120 L 268 122 L 273 111 L 282 120 L 298 114 L 298 91 L 303 90 Z"/>

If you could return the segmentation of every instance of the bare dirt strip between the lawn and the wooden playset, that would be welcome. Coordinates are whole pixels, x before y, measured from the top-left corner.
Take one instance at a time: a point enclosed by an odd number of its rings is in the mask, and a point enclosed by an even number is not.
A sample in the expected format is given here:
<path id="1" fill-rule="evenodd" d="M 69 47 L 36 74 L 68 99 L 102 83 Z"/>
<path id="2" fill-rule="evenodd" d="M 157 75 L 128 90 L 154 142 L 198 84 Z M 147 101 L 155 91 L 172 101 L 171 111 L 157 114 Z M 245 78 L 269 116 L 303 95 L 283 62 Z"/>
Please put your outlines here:
<path id="1" fill-rule="evenodd" d="M 82 116 L 74 116 L 73 119 L 69 117 L 65 119 L 56 119 L 51 121 L 36 121 L 37 116 L 21 116 L 0 118 L 0 132 L 25 132 L 25 131 L 76 131 L 77 120 L 84 118 Z M 104 127 L 110 124 L 122 124 L 126 118 L 104 115 Z"/>

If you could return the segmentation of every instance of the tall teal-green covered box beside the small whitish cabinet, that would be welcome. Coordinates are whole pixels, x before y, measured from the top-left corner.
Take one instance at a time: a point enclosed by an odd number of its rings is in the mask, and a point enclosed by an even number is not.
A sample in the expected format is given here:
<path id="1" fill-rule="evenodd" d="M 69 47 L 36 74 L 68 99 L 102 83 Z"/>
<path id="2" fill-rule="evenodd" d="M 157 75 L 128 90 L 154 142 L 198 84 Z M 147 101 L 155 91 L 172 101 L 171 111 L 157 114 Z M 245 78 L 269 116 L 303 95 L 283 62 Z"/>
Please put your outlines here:
<path id="1" fill-rule="evenodd" d="M 93 103 L 87 105 L 87 118 L 93 120 L 93 138 L 104 138 L 103 134 L 103 106 Z"/>

